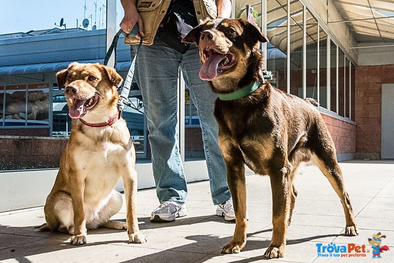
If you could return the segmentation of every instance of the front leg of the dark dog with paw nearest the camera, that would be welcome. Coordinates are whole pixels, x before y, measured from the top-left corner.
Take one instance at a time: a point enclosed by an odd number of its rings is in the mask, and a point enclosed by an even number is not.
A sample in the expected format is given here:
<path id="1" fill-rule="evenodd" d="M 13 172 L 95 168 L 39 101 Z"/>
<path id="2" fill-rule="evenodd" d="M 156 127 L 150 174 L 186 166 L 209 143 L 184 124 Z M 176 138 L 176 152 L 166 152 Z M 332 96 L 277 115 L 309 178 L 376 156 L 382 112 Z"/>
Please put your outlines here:
<path id="1" fill-rule="evenodd" d="M 272 239 L 264 253 L 268 259 L 282 258 L 285 254 L 288 217 L 292 200 L 292 168 L 285 164 L 270 173 L 272 191 Z"/>

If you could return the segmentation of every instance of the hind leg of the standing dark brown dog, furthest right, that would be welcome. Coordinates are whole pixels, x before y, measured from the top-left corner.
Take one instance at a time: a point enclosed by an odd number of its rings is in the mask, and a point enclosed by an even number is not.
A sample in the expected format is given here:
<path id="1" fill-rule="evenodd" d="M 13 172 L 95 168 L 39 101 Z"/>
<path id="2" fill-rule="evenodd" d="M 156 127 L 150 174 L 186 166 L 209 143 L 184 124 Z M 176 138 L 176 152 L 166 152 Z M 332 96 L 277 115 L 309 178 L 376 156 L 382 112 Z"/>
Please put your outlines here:
<path id="1" fill-rule="evenodd" d="M 346 218 L 345 234 L 350 236 L 358 235 L 359 229 L 353 214 L 352 204 L 350 203 L 349 195 L 345 190 L 342 171 L 336 160 L 334 142 L 332 141 L 327 128 L 323 128 L 318 129 L 320 132 L 318 133 L 318 139 L 315 141 L 315 147 L 313 147 L 312 151 L 315 154 L 316 163 L 320 170 L 327 177 L 332 188 L 341 199 Z"/>

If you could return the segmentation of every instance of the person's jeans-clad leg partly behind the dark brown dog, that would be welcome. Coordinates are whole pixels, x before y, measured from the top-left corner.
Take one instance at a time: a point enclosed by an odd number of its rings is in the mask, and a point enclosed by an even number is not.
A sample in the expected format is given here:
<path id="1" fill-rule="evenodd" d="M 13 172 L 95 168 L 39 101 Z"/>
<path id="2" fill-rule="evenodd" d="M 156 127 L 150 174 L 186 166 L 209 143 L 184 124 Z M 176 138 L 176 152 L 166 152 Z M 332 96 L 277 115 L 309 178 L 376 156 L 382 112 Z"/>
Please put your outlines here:
<path id="1" fill-rule="evenodd" d="M 228 201 L 231 195 L 227 186 L 226 165 L 218 145 L 218 125 L 213 115 L 214 102 L 218 96 L 211 91 L 208 82 L 199 78 L 200 69 L 197 47 L 191 46 L 182 56 L 181 70 L 197 106 L 212 200 L 214 204 L 221 204 Z"/>

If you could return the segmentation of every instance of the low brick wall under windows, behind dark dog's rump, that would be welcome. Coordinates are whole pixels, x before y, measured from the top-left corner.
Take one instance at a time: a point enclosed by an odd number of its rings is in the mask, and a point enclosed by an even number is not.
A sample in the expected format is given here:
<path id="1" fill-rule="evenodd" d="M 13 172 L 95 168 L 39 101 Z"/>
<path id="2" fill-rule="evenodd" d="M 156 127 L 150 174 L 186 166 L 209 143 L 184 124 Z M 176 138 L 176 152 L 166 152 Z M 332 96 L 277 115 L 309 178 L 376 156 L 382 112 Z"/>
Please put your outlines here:
<path id="1" fill-rule="evenodd" d="M 338 120 L 323 113 L 322 117 L 334 141 L 336 153 L 355 153 L 356 125 Z"/>

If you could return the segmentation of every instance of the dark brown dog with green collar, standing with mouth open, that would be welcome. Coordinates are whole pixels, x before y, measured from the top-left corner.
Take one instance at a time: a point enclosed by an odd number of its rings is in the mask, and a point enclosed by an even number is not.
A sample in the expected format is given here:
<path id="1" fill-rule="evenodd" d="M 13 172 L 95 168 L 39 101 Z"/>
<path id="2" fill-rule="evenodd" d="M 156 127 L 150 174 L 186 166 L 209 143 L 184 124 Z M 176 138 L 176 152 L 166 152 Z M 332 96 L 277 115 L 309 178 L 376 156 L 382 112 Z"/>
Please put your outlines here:
<path id="1" fill-rule="evenodd" d="M 335 147 L 319 111 L 309 102 L 273 88 L 263 80 L 259 42 L 267 38 L 244 19 L 216 19 L 193 29 L 184 42 L 196 43 L 203 66 L 201 79 L 219 94 L 215 117 L 219 146 L 227 165 L 236 226 L 222 253 L 238 253 L 246 243 L 247 164 L 269 175 L 272 188 L 272 240 L 264 256 L 283 257 L 296 189 L 293 184 L 301 162 L 314 159 L 342 201 L 346 234 L 358 228 L 343 185 Z"/>

